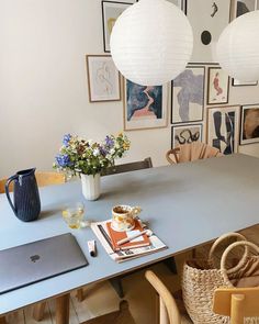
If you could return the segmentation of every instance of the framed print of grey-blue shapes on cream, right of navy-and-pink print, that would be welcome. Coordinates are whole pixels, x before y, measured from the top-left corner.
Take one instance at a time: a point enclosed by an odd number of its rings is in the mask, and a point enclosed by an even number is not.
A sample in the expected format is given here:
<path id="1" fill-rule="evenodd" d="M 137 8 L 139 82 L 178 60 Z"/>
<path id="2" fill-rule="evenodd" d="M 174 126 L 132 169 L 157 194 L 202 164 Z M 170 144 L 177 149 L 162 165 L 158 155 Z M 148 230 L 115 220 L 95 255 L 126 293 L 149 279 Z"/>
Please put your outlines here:
<path id="1" fill-rule="evenodd" d="M 203 120 L 204 76 L 202 66 L 189 66 L 172 81 L 171 123 Z"/>

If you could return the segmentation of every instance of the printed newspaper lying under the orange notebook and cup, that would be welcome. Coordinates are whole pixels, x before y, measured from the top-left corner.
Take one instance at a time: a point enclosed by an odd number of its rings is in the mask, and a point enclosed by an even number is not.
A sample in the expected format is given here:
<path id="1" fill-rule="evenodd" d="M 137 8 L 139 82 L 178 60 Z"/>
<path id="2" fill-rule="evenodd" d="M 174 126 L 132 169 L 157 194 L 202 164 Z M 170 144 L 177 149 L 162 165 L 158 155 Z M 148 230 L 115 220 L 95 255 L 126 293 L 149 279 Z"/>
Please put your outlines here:
<path id="1" fill-rule="evenodd" d="M 148 246 L 121 249 L 115 252 L 106 226 L 106 223 L 109 222 L 111 222 L 111 220 L 92 223 L 91 228 L 93 233 L 97 235 L 98 239 L 101 242 L 106 253 L 110 255 L 110 257 L 117 262 L 122 262 L 128 259 L 139 257 L 142 255 L 155 253 L 164 248 L 167 248 L 167 246 L 156 235 L 153 234 L 149 237 L 150 244 Z"/>

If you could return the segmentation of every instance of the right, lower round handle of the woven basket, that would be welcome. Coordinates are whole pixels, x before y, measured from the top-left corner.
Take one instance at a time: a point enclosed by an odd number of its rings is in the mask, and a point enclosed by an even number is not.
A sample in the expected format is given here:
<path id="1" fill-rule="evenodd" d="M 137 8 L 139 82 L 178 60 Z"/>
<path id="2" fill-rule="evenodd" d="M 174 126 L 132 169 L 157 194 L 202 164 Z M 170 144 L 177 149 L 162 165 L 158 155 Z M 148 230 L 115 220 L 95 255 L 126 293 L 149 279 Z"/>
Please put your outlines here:
<path id="1" fill-rule="evenodd" d="M 223 275 L 225 277 L 225 280 L 229 281 L 227 275 L 229 275 L 229 270 L 226 269 L 226 259 L 227 259 L 227 255 L 229 254 L 229 252 L 237 247 L 237 246 L 245 246 L 245 248 L 249 249 L 255 249 L 255 252 L 259 255 L 259 246 L 257 246 L 256 244 L 248 242 L 248 241 L 239 241 L 239 242 L 235 242 L 233 244 L 230 244 L 223 253 L 222 255 L 222 259 L 221 259 L 221 270 L 223 271 Z M 246 258 L 240 259 L 240 261 L 238 262 L 238 268 L 243 267 L 246 264 Z M 230 269 L 233 270 L 233 269 Z"/>

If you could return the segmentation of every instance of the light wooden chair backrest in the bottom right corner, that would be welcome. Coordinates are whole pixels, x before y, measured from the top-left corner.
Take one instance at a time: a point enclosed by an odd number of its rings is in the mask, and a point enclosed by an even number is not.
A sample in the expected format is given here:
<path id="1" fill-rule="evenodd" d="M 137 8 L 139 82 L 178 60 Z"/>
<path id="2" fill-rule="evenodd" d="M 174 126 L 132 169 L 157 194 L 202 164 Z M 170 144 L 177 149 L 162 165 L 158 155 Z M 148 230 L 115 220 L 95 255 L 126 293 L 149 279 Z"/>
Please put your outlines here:
<path id="1" fill-rule="evenodd" d="M 244 317 L 259 316 L 258 304 L 259 287 L 219 288 L 214 292 L 213 312 L 230 316 L 230 324 L 244 324 Z"/>

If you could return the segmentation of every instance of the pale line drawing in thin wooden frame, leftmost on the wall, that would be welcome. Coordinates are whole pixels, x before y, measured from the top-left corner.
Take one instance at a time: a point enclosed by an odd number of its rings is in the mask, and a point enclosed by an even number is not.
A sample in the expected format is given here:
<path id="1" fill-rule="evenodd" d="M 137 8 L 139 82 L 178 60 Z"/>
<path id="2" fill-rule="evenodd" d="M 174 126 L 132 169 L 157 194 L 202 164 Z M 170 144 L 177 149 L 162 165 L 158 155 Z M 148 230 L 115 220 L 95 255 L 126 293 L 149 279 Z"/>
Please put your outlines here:
<path id="1" fill-rule="evenodd" d="M 87 55 L 89 101 L 120 101 L 120 72 L 110 55 Z"/>

